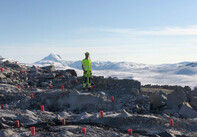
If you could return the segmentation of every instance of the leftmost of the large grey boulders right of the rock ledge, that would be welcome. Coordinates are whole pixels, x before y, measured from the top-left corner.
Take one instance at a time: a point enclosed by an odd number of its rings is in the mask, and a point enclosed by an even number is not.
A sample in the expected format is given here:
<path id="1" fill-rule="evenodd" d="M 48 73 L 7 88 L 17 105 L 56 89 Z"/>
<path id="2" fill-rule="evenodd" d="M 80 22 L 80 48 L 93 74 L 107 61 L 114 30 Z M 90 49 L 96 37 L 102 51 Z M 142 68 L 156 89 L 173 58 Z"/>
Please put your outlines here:
<path id="1" fill-rule="evenodd" d="M 151 108 L 156 109 L 166 105 L 167 98 L 166 94 L 162 91 L 154 92 L 150 95 Z"/>

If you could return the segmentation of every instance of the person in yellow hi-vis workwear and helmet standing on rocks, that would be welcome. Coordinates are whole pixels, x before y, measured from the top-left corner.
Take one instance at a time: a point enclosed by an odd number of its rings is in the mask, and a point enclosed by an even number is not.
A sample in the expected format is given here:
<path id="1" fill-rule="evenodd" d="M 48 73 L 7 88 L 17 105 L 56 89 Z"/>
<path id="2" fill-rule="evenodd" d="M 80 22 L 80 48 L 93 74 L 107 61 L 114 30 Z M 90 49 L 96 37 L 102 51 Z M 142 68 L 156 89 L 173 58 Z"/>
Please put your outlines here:
<path id="1" fill-rule="evenodd" d="M 83 69 L 83 89 L 91 88 L 91 78 L 92 78 L 92 62 L 89 58 L 89 52 L 85 53 L 85 59 L 82 60 Z"/>

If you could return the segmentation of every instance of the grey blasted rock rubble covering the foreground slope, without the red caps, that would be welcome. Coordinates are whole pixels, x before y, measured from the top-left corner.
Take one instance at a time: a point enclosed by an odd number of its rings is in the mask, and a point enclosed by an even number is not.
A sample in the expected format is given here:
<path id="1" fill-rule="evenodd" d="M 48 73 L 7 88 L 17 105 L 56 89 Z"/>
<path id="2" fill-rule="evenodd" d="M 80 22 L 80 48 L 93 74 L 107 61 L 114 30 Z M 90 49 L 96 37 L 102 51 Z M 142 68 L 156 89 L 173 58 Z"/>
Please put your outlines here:
<path id="1" fill-rule="evenodd" d="M 194 92 L 188 92 L 188 87 L 176 87 L 168 95 L 158 90 L 148 96 L 141 92 L 139 81 L 93 76 L 94 90 L 86 91 L 81 86 L 83 78 L 77 77 L 72 69 L 29 67 L 9 61 L 0 63 L 0 67 L 4 68 L 0 72 L 0 104 L 4 104 L 0 109 L 1 137 L 30 136 L 32 126 L 36 128 L 36 136 L 42 137 L 78 137 L 82 136 L 82 127 L 86 127 L 85 136 L 89 137 L 126 137 L 128 129 L 140 137 L 196 134 L 196 121 L 182 119 L 196 117 L 193 110 L 196 97 L 191 97 Z M 189 97 L 193 108 L 183 103 Z M 45 108 L 43 112 L 41 105 Z M 161 107 L 160 114 L 151 112 Z M 169 126 L 170 118 L 174 119 L 174 131 Z M 15 127 L 15 120 L 20 121 L 20 128 Z"/>

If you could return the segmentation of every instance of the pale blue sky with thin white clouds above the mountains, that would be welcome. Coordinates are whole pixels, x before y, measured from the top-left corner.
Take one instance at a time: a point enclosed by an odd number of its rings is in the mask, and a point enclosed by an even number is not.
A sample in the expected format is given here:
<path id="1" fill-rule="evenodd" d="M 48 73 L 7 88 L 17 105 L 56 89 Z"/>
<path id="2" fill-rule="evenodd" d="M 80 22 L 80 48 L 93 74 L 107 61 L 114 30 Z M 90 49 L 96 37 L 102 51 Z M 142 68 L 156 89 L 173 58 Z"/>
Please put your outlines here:
<path id="1" fill-rule="evenodd" d="M 196 0 L 0 0 L 0 55 L 146 64 L 197 61 Z"/>

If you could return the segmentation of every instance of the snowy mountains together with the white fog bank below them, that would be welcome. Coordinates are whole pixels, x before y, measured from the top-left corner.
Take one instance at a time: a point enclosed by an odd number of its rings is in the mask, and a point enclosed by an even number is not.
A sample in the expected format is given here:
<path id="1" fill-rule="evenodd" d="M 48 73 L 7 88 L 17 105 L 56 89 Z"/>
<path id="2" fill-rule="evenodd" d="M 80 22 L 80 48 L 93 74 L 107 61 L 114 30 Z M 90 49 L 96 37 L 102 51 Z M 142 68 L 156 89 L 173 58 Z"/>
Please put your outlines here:
<path id="1" fill-rule="evenodd" d="M 59 55 L 50 54 L 35 65 L 55 65 L 56 69 L 76 70 L 82 76 L 81 61 L 66 61 Z M 180 62 L 174 64 L 147 65 L 134 62 L 93 61 L 93 74 L 96 76 L 136 79 L 142 84 L 189 85 L 197 86 L 197 63 Z"/>

